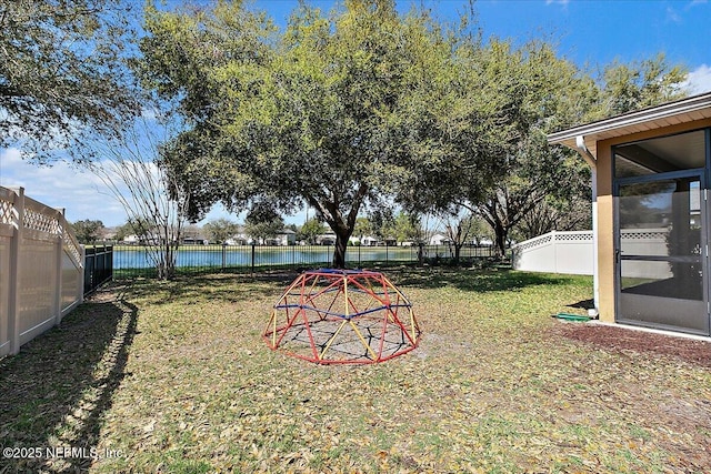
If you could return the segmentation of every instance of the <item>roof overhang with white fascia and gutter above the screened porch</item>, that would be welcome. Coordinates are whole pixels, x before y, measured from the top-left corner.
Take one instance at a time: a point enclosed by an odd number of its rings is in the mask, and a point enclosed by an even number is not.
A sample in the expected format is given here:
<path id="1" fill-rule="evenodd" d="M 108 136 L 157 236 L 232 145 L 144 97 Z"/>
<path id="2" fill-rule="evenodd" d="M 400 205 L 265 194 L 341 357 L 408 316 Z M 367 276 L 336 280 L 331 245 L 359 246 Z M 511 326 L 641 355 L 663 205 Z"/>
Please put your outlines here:
<path id="1" fill-rule="evenodd" d="M 595 154 L 600 140 L 703 119 L 711 119 L 711 92 L 551 133 L 548 142 L 579 150 L 580 140 L 583 140 L 587 148 Z"/>

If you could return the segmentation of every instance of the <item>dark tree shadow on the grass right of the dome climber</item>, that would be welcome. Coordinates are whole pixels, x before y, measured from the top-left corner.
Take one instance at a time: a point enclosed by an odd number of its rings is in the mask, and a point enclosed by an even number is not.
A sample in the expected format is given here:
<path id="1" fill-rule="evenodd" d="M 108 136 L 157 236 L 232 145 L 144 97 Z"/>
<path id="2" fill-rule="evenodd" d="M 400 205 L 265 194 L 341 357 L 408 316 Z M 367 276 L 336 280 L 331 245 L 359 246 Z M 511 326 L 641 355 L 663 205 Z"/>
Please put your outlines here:
<path id="1" fill-rule="evenodd" d="M 569 280 L 544 273 L 525 273 L 511 270 L 468 269 L 412 269 L 403 268 L 391 272 L 398 285 L 419 289 L 452 286 L 462 291 L 491 292 L 518 290 L 533 285 L 565 284 Z"/>

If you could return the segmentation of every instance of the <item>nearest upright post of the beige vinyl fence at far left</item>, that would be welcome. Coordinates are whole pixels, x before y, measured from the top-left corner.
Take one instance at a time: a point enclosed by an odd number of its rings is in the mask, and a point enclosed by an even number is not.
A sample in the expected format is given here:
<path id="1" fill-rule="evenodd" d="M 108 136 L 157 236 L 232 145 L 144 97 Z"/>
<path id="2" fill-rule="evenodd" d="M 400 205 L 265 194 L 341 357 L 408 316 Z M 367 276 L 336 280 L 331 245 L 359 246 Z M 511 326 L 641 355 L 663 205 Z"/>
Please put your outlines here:
<path id="1" fill-rule="evenodd" d="M 20 352 L 20 314 L 18 301 L 20 300 L 20 248 L 22 246 L 24 230 L 24 188 L 14 193 L 14 235 L 10 240 L 10 289 L 8 292 L 8 339 L 10 340 L 10 355 Z"/>

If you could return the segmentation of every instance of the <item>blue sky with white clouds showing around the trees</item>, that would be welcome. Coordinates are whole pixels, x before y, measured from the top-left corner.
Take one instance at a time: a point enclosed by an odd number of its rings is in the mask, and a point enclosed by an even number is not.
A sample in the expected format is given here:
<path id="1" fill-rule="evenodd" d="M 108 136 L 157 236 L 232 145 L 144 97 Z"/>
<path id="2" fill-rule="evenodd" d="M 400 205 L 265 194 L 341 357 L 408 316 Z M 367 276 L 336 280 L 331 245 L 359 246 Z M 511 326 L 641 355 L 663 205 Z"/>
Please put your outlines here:
<path id="1" fill-rule="evenodd" d="M 253 2 L 282 26 L 297 4 L 292 0 Z M 311 4 L 328 10 L 334 2 L 319 0 Z M 402 10 L 412 4 L 423 4 L 441 19 L 454 20 L 469 2 L 399 1 Z M 510 38 L 519 43 L 547 38 L 558 44 L 561 56 L 589 68 L 601 68 L 613 60 L 640 61 L 663 52 L 670 63 L 688 68 L 693 93 L 711 91 L 711 2 L 708 0 L 480 0 L 474 9 L 484 38 Z M 101 220 L 108 226 L 126 222 L 123 210 L 96 177 L 78 173 L 64 164 L 33 167 L 22 162 L 14 149 L 0 149 L 0 185 L 23 186 L 32 199 L 64 208 L 70 221 Z M 220 206 L 207 220 L 222 216 L 242 220 L 227 214 Z M 304 212 L 286 220 L 301 224 Z"/>

